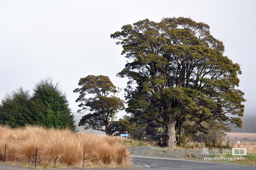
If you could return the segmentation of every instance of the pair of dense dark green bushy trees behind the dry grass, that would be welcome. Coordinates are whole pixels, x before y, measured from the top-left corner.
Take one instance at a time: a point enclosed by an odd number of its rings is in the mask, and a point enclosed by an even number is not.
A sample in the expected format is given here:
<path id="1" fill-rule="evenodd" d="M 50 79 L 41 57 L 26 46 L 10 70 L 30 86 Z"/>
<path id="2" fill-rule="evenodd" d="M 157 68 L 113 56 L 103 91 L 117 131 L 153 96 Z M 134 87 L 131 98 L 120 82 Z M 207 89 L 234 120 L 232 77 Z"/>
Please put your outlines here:
<path id="1" fill-rule="evenodd" d="M 74 116 L 68 106 L 59 85 L 49 78 L 35 84 L 32 96 L 22 88 L 6 95 L 1 101 L 0 118 L 3 124 L 12 127 L 38 124 L 75 130 Z"/>

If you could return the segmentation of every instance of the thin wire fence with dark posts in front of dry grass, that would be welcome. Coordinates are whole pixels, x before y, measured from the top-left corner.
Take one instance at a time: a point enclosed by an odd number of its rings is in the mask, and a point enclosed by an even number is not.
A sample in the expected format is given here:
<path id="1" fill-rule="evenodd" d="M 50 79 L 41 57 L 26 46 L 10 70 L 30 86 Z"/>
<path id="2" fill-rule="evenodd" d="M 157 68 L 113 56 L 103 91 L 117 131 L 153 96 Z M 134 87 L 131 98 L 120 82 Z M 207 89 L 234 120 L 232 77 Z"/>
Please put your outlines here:
<path id="1" fill-rule="evenodd" d="M 24 147 L 24 148 L 27 148 L 27 147 Z M 36 161 L 37 161 L 37 158 L 39 157 L 70 157 L 70 156 L 66 156 L 66 155 L 47 155 L 47 156 L 43 156 L 43 155 L 38 155 L 37 153 L 37 150 L 38 149 L 46 149 L 46 150 L 52 150 L 52 151 L 72 151 L 72 150 L 80 150 L 80 149 L 69 149 L 69 150 L 55 150 L 55 149 L 48 149 L 48 148 L 28 148 L 28 149 L 36 149 L 36 154 L 34 156 L 35 158 L 35 168 L 36 168 Z M 108 152 L 108 151 L 99 151 L 99 150 L 92 150 L 92 149 L 86 149 L 84 148 L 84 154 L 83 154 L 83 167 L 84 167 L 84 159 L 85 158 L 105 158 L 105 157 L 85 157 L 85 150 L 89 150 L 89 151 L 96 151 L 96 152 Z M 126 160 L 126 152 L 125 150 L 124 151 L 124 155 L 125 155 L 125 164 L 126 164 L 126 167 L 127 167 L 127 160 Z M 114 151 L 114 152 L 118 152 L 118 151 Z M 5 155 L 6 155 L 6 144 L 5 144 L 5 152 L 4 152 L 4 160 L 3 162 L 5 163 Z M 19 155 L 19 156 L 28 156 L 28 155 Z"/>

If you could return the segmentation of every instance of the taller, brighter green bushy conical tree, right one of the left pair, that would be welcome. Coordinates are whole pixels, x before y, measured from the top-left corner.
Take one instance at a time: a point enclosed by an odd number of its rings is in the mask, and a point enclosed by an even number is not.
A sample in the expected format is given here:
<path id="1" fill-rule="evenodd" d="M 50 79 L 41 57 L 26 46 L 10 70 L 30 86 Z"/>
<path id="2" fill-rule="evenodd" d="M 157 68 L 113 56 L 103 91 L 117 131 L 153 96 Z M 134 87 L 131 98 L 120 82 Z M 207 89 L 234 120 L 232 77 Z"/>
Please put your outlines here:
<path id="1" fill-rule="evenodd" d="M 42 79 L 35 84 L 32 100 L 36 104 L 34 112 L 38 122 L 46 127 L 70 128 L 75 130 L 74 115 L 69 108 L 66 94 L 51 78 Z"/>

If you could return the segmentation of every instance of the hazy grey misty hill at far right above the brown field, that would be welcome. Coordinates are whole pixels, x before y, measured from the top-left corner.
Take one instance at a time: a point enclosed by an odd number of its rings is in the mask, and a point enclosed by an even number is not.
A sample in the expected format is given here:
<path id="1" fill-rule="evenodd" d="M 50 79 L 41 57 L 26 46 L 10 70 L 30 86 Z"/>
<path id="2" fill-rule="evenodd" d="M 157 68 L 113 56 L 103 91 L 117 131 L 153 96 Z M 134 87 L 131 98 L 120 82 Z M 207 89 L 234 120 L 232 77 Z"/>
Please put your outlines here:
<path id="1" fill-rule="evenodd" d="M 241 132 L 241 133 L 256 133 L 256 116 L 243 116 L 243 127 L 231 128 L 231 132 Z"/>

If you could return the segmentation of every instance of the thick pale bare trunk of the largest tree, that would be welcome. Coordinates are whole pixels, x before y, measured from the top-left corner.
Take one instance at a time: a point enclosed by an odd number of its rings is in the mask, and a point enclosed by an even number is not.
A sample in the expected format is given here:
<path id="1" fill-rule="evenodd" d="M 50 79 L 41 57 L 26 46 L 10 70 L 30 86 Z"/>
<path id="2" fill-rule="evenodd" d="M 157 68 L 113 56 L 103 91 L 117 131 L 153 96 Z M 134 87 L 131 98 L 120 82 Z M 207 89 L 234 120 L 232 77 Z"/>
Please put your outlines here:
<path id="1" fill-rule="evenodd" d="M 172 119 L 170 119 L 166 125 L 168 148 L 174 148 L 177 144 L 176 134 L 175 134 L 175 125 L 176 125 L 176 120 L 172 120 Z"/>

